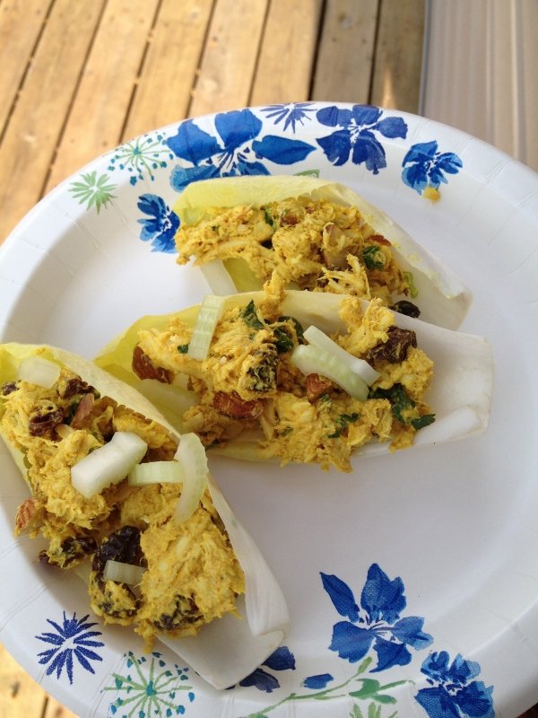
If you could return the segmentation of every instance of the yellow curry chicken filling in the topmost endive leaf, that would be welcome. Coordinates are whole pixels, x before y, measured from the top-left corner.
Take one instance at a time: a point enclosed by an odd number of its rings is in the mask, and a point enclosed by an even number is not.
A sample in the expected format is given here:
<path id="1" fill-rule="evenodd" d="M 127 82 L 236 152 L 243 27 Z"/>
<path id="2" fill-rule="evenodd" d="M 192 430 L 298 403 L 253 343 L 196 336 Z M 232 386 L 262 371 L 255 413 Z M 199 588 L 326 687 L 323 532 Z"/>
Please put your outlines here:
<path id="1" fill-rule="evenodd" d="M 419 314 L 401 298 L 415 295 L 412 274 L 398 266 L 390 241 L 354 206 L 301 195 L 262 206 L 206 207 L 201 221 L 179 227 L 176 246 L 179 264 L 191 257 L 202 265 L 221 259 L 229 268 L 242 261 L 243 272 L 260 283 L 277 274 L 288 286 L 378 297 Z"/>

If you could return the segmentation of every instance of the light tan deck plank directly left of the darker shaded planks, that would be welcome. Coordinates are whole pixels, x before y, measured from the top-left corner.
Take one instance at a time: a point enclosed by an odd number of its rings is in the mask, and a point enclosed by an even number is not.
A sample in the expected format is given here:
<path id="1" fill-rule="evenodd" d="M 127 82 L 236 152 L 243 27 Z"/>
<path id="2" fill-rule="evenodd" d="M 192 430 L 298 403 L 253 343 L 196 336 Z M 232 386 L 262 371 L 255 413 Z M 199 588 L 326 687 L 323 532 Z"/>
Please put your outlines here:
<path id="1" fill-rule="evenodd" d="M 308 100 L 321 0 L 272 0 L 249 104 Z"/>

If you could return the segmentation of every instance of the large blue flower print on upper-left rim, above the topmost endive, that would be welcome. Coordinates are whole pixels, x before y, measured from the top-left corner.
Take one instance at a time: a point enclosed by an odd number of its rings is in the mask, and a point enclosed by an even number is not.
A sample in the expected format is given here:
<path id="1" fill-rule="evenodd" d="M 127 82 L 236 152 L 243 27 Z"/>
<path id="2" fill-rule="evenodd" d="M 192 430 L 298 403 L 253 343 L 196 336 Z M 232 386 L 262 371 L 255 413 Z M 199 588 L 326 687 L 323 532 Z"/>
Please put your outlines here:
<path id="1" fill-rule="evenodd" d="M 315 150 L 312 144 L 288 137 L 259 137 L 263 122 L 250 109 L 238 109 L 215 115 L 217 136 L 188 119 L 166 141 L 172 152 L 191 167 L 176 167 L 170 184 L 181 192 L 195 180 L 235 175 L 269 174 L 265 161 L 290 165 L 300 162 Z"/>

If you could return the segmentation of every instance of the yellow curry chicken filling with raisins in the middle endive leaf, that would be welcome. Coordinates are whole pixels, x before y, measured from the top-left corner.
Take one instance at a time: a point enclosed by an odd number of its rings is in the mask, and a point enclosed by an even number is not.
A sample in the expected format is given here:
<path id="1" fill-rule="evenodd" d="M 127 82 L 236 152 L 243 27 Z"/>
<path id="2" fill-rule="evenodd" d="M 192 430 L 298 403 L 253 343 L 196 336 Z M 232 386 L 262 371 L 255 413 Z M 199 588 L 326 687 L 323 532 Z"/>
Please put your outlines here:
<path id="1" fill-rule="evenodd" d="M 140 330 L 134 372 L 175 385 L 187 377 L 196 400 L 183 415 L 183 428 L 206 447 L 254 435 L 256 458 L 351 471 L 352 452 L 367 442 L 390 442 L 394 450 L 410 446 L 434 420 L 425 402 L 433 362 L 415 333 L 398 328 L 380 298 L 365 311 L 358 298 L 343 299 L 345 331 L 332 339 L 347 355 L 369 363 L 377 377 L 358 398 L 324 375 L 323 364 L 317 371 L 299 368 L 295 357 L 308 343 L 308 331 L 282 316 L 278 286 L 267 283 L 257 304 L 238 301 L 224 311 L 203 360 L 189 355 L 193 328 L 180 312 L 164 331 Z"/>

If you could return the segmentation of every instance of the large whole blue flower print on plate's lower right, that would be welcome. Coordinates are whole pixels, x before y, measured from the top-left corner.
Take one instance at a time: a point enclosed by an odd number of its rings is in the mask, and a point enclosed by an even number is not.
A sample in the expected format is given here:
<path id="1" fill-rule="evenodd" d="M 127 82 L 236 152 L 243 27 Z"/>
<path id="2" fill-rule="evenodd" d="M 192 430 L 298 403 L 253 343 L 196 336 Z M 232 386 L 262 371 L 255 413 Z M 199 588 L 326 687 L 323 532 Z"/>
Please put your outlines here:
<path id="1" fill-rule="evenodd" d="M 347 583 L 334 575 L 321 574 L 321 578 L 334 608 L 347 618 L 334 624 L 329 646 L 340 658 L 355 663 L 373 647 L 377 653 L 373 673 L 407 665 L 412 660 L 409 647 L 420 651 L 432 643 L 422 631 L 423 618 L 400 617 L 406 606 L 402 579 L 391 581 L 377 564 L 369 567 L 360 606 Z"/>

